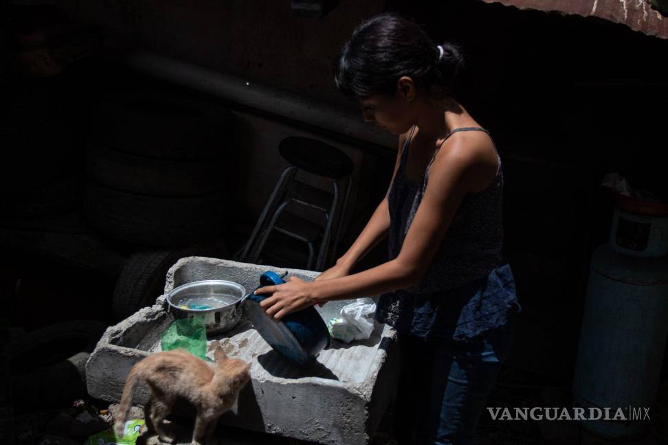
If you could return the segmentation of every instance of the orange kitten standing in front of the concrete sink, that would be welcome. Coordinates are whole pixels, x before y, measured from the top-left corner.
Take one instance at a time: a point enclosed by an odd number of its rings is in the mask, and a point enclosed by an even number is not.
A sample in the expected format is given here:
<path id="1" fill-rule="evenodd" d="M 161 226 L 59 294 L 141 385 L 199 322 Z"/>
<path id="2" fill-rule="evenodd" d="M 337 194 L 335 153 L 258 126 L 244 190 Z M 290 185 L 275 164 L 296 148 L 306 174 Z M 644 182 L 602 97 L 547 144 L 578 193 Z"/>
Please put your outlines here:
<path id="1" fill-rule="evenodd" d="M 239 391 L 250 380 L 250 364 L 230 358 L 218 346 L 215 365 L 206 363 L 185 350 L 157 352 L 136 363 L 125 381 L 120 401 L 116 433 L 122 436 L 133 393 L 138 380 L 150 389 L 146 404 L 146 426 L 157 433 L 161 442 L 171 444 L 174 437 L 166 435 L 164 420 L 172 410 L 177 396 L 186 398 L 197 409 L 192 445 L 209 443 L 221 414 L 232 407 Z"/>

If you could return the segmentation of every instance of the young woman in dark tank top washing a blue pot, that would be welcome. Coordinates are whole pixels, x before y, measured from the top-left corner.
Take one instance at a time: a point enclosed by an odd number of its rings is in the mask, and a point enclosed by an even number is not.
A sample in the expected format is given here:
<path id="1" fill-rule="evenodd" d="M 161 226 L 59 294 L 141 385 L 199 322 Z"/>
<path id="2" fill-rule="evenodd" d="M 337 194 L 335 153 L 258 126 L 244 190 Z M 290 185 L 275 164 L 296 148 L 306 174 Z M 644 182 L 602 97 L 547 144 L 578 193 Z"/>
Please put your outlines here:
<path id="1" fill-rule="evenodd" d="M 261 306 L 284 315 L 334 299 L 380 295 L 376 319 L 405 356 L 395 418 L 402 443 L 470 444 L 508 354 L 519 312 L 501 253 L 501 161 L 487 130 L 453 97 L 457 47 L 381 14 L 353 32 L 337 87 L 366 121 L 399 136 L 392 183 L 364 230 L 313 282 L 292 277 Z M 351 274 L 385 236 L 390 259 Z"/>

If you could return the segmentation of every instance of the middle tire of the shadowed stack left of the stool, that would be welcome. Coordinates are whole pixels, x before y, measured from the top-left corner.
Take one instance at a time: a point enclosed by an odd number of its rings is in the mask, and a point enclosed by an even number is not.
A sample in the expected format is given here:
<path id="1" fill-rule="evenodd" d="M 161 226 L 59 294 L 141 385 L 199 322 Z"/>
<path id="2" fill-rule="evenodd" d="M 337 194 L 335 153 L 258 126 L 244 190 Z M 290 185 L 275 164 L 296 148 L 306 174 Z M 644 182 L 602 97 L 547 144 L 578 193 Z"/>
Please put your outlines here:
<path id="1" fill-rule="evenodd" d="M 91 144 L 86 172 L 93 181 L 116 190 L 153 196 L 197 196 L 225 187 L 220 162 L 139 157 L 104 144 Z"/>

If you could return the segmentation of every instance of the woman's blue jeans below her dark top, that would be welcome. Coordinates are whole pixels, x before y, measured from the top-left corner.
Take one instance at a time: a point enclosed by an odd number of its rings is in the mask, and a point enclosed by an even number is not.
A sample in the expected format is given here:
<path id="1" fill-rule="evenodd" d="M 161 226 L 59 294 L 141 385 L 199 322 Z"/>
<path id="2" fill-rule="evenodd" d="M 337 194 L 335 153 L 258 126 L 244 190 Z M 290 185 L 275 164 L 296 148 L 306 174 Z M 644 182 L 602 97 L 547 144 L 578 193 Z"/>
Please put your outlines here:
<path id="1" fill-rule="evenodd" d="M 465 341 L 399 334 L 404 352 L 394 424 L 400 444 L 473 443 L 485 400 L 508 356 L 515 314 Z"/>

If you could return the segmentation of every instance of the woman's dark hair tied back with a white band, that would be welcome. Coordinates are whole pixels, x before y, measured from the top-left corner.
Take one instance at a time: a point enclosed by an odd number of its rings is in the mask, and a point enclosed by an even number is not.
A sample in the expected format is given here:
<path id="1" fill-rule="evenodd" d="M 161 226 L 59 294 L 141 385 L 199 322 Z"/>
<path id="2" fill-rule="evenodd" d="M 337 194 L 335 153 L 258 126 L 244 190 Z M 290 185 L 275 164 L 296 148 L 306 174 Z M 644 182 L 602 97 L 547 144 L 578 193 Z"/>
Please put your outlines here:
<path id="1" fill-rule="evenodd" d="M 401 76 L 426 87 L 437 99 L 452 95 L 457 73 L 463 67 L 458 46 L 438 46 L 416 23 L 392 13 L 379 14 L 359 25 L 334 62 L 339 90 L 361 99 L 393 94 Z"/>

